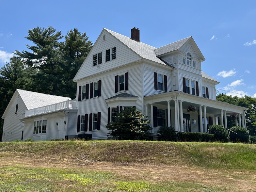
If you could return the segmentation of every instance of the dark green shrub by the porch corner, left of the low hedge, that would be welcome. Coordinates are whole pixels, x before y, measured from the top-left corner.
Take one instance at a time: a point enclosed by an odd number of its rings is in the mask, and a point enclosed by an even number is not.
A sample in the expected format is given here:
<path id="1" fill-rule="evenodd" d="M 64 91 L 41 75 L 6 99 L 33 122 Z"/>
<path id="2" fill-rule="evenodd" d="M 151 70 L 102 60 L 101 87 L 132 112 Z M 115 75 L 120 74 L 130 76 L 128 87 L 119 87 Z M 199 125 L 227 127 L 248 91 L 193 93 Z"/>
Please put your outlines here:
<path id="1" fill-rule="evenodd" d="M 161 126 L 157 134 L 159 141 L 176 141 L 176 133 L 174 127 Z"/>

